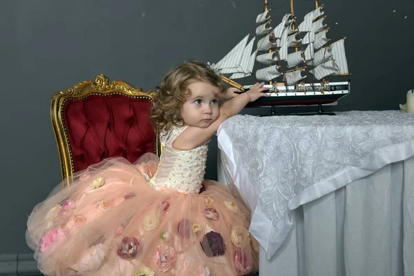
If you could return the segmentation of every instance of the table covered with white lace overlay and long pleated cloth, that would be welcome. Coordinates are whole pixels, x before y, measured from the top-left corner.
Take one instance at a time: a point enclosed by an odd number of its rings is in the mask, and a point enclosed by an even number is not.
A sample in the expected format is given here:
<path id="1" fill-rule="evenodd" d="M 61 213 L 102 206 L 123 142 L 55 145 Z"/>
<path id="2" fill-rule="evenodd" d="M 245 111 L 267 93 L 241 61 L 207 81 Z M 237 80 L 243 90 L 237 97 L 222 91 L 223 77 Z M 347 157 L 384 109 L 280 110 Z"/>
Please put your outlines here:
<path id="1" fill-rule="evenodd" d="M 414 275 L 413 114 L 237 115 L 217 135 L 264 275 Z"/>

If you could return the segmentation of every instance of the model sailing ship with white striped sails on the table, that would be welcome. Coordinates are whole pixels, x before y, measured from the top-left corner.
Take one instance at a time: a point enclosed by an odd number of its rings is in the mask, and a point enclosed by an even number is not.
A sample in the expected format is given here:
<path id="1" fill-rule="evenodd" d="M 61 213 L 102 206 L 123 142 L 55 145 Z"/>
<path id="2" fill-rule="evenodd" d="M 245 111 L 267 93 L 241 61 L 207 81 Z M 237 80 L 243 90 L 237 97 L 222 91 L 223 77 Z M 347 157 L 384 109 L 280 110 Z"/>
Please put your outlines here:
<path id="1" fill-rule="evenodd" d="M 350 92 L 350 81 L 329 83 L 327 76 L 346 76 L 344 40 L 329 43 L 326 38 L 328 26 L 324 24 L 324 6 L 315 1 L 316 9 L 305 15 L 299 25 L 293 14 L 293 0 L 290 13 L 273 28 L 268 1 L 264 12 L 257 15 L 256 37 L 248 41 L 249 34 L 233 50 L 210 67 L 219 72 L 230 85 L 246 91 L 234 79 L 242 79 L 253 73 L 255 62 L 262 64 L 255 72 L 256 79 L 265 81 L 270 97 L 255 102 L 259 106 L 319 105 L 333 103 Z M 300 38 L 302 37 L 302 38 Z M 257 39 L 257 48 L 253 46 Z M 226 75 L 230 77 L 226 77 Z M 305 82 L 306 81 L 306 82 Z"/>

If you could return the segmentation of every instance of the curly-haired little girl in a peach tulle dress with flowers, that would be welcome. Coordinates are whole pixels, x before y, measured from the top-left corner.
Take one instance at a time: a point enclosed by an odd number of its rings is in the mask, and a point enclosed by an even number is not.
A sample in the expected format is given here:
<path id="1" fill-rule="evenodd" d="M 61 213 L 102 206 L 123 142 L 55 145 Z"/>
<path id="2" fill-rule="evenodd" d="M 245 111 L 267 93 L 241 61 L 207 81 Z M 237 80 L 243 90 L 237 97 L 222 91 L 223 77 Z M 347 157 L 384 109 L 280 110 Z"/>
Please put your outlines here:
<path id="1" fill-rule="evenodd" d="M 78 276 L 255 272 L 258 244 L 247 230 L 248 208 L 203 177 L 210 137 L 249 101 L 266 96 L 263 85 L 236 96 L 202 63 L 170 70 L 152 110 L 161 157 L 147 153 L 135 164 L 105 159 L 38 204 L 26 240 L 39 269 Z M 231 99 L 219 105 L 224 98 Z"/>

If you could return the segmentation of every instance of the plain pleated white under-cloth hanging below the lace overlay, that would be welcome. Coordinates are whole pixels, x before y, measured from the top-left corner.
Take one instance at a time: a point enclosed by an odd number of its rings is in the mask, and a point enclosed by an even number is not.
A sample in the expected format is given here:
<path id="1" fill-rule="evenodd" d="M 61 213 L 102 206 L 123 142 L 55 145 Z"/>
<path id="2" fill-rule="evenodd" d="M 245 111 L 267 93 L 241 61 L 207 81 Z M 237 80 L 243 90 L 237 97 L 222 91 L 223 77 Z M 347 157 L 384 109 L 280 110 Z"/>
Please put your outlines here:
<path id="1" fill-rule="evenodd" d="M 414 157 L 389 164 L 295 210 L 266 276 L 414 275 Z"/>

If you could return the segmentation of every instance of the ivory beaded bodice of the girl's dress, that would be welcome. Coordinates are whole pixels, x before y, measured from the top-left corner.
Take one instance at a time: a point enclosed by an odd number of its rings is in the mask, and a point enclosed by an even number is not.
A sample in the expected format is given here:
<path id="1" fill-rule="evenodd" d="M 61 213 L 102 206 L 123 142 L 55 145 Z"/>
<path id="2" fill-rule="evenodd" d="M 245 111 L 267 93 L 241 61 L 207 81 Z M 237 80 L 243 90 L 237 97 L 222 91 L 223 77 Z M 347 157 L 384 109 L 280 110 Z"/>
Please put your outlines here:
<path id="1" fill-rule="evenodd" d="M 206 172 L 208 141 L 193 150 L 177 150 L 172 143 L 187 126 L 175 126 L 161 131 L 159 139 L 163 151 L 152 185 L 173 188 L 181 193 L 199 193 Z"/>

